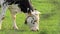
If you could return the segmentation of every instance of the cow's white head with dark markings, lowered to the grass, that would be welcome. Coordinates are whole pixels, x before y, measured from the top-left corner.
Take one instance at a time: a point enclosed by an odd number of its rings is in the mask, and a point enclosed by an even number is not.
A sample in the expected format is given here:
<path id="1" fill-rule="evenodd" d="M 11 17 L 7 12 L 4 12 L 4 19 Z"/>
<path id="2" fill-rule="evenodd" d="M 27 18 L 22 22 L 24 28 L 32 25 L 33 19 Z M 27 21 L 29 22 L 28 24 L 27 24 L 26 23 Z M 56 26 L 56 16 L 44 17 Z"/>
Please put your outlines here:
<path id="1" fill-rule="evenodd" d="M 27 23 L 33 31 L 39 30 L 39 14 L 41 14 L 39 11 L 34 10 L 27 16 L 25 23 Z"/>

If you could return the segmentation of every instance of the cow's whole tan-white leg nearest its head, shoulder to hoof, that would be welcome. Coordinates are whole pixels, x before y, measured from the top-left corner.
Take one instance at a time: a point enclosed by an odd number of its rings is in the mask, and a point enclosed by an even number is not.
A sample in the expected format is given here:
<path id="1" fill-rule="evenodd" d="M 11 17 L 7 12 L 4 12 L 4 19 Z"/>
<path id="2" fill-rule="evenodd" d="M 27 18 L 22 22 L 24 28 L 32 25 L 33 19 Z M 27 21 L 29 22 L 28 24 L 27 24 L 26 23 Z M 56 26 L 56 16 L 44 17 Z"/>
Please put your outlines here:
<path id="1" fill-rule="evenodd" d="M 11 6 L 9 6 L 9 9 L 10 9 L 10 12 L 11 12 L 11 16 L 12 16 L 12 21 L 13 21 L 13 28 L 14 29 L 18 29 L 18 27 L 17 27 L 17 25 L 16 25 L 16 9 L 15 9 L 16 7 L 14 7 L 14 5 L 11 5 Z"/>

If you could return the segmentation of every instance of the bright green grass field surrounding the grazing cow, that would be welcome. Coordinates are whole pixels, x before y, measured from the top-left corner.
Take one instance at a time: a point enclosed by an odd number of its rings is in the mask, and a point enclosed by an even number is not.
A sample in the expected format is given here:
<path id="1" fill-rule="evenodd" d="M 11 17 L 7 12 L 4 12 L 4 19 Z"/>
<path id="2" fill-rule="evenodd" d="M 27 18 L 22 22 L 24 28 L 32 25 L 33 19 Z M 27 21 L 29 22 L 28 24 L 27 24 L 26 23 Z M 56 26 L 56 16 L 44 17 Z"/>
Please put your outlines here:
<path id="1" fill-rule="evenodd" d="M 11 14 L 7 10 L 0 34 L 60 34 L 60 0 L 32 0 L 32 3 L 42 13 L 38 32 L 30 31 L 24 24 L 24 13 L 17 14 L 19 30 L 14 30 Z"/>

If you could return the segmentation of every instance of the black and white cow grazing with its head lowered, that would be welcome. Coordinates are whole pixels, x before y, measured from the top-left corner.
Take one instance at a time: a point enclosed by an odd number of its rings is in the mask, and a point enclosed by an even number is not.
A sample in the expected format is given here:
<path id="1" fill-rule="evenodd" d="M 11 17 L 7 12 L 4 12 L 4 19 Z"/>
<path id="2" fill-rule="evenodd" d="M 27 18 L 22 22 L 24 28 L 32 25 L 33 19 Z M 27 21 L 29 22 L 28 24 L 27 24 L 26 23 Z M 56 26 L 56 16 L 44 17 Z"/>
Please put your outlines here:
<path id="1" fill-rule="evenodd" d="M 2 20 L 6 9 L 9 8 L 13 20 L 14 29 L 18 29 L 16 25 L 16 13 L 23 12 L 26 14 L 25 24 L 28 24 L 33 31 L 39 30 L 39 14 L 40 12 L 34 10 L 30 0 L 0 0 L 1 13 L 0 13 L 0 29 Z M 21 10 L 21 11 L 20 11 Z"/>

